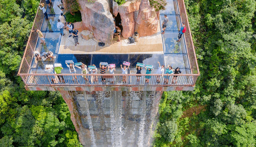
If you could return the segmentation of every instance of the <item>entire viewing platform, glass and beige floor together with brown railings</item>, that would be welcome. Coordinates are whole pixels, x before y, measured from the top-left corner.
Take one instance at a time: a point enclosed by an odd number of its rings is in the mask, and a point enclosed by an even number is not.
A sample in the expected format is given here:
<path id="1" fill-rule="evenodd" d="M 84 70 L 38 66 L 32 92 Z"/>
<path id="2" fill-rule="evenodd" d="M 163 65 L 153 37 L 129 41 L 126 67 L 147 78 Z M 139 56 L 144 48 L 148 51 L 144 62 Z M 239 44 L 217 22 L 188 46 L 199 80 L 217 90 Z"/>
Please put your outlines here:
<path id="1" fill-rule="evenodd" d="M 41 0 L 40 3 L 45 3 Z M 113 44 L 98 46 L 97 40 L 91 38 L 85 40 L 79 31 L 79 44 L 74 45 L 74 39 L 68 37 L 68 29 L 64 30 L 65 35 L 60 35 L 57 29 L 57 20 L 60 16 L 60 8 L 57 7 L 60 2 L 52 0 L 52 8 L 47 7 L 49 20 L 44 19 L 44 14 L 38 9 L 33 23 L 32 30 L 41 30 L 45 37 L 46 45 L 40 44 L 38 33 L 30 32 L 27 41 L 24 56 L 18 71 L 25 83 L 26 90 L 51 90 L 51 91 L 170 91 L 170 90 L 193 90 L 199 73 L 199 67 L 196 60 L 196 53 L 193 46 L 191 30 L 188 23 L 188 17 L 185 9 L 184 0 L 167 0 L 166 9 L 160 11 L 160 23 L 158 33 L 151 36 L 140 37 L 135 44 L 129 44 L 127 38 L 122 38 L 117 42 L 117 36 L 113 38 Z M 161 34 L 161 24 L 164 14 L 168 15 L 169 22 L 166 32 Z M 178 29 L 181 22 L 185 22 L 187 31 L 182 35 L 181 41 L 176 42 L 178 38 Z M 44 66 L 40 66 L 35 60 L 34 51 L 39 53 L 53 52 L 51 60 L 45 60 L 45 65 L 54 65 L 61 63 L 62 74 L 48 73 Z M 82 62 L 85 65 L 96 65 L 99 70 L 100 62 L 107 62 L 116 65 L 115 74 L 79 74 L 81 69 L 76 68 L 76 74 L 71 74 L 65 65 L 65 60 L 73 60 L 74 63 Z M 120 65 L 123 61 L 130 62 L 128 74 L 121 74 Z M 158 69 L 158 63 L 165 66 L 171 65 L 172 68 L 180 68 L 182 74 L 172 74 L 169 76 L 168 84 L 164 84 L 164 76 L 160 76 L 160 82 L 156 79 L 159 74 L 155 74 Z M 136 63 L 153 65 L 154 70 L 150 74 L 150 82 L 145 82 L 146 70 L 142 69 L 142 74 L 136 73 Z M 106 73 L 109 73 L 106 71 Z M 64 82 L 58 80 L 63 77 Z M 74 76 L 77 79 L 73 80 Z M 88 81 L 84 80 L 86 76 Z M 101 82 L 101 78 L 106 82 Z M 123 83 L 123 76 L 127 82 Z M 136 76 L 140 77 L 140 82 L 136 82 Z M 97 82 L 91 80 L 92 77 L 98 79 Z M 52 79 L 57 79 L 53 81 Z M 173 79 L 175 79 L 173 81 Z M 173 81 L 173 82 L 172 82 Z"/>

